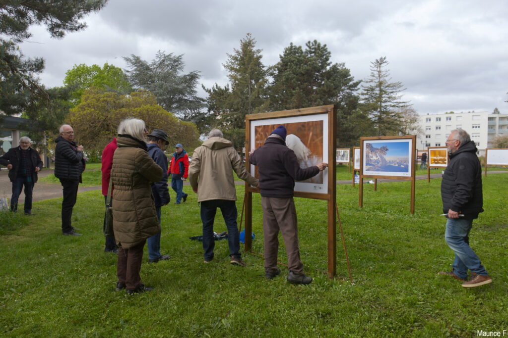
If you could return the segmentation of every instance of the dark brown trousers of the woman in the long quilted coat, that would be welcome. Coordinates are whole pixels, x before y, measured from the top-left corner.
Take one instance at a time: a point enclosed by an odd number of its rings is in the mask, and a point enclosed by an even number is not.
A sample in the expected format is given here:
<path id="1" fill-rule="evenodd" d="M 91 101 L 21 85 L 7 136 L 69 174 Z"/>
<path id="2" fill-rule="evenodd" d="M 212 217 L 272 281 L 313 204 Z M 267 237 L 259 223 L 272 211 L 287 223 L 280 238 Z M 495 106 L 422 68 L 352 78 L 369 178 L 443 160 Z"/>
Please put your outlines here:
<path id="1" fill-rule="evenodd" d="M 143 247 L 146 240 L 142 243 L 123 249 L 118 248 L 118 262 L 116 265 L 116 276 L 118 283 L 123 283 L 128 290 L 135 290 L 141 284 L 141 260 L 143 259 Z"/>

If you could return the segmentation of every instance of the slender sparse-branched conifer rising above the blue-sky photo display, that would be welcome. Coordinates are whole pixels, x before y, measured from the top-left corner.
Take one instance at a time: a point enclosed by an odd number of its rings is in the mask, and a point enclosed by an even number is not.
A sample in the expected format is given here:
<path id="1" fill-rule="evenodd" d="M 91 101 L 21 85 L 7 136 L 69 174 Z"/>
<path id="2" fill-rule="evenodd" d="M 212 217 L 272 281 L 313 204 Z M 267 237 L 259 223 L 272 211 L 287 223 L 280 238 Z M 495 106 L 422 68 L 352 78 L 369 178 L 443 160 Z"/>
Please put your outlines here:
<path id="1" fill-rule="evenodd" d="M 409 101 L 401 101 L 402 83 L 391 82 L 388 64 L 385 56 L 370 62 L 370 77 L 362 85 L 362 99 L 378 136 L 405 132 L 400 108 L 409 106 Z"/>

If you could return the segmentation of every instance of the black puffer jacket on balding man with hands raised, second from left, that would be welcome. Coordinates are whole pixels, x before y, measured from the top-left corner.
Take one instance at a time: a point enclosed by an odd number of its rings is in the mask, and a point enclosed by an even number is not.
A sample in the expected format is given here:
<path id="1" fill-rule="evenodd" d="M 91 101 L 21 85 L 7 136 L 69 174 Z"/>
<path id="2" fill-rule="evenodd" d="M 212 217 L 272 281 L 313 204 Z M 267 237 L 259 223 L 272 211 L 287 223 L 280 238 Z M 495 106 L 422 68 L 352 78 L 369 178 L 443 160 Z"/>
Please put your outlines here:
<path id="1" fill-rule="evenodd" d="M 85 170 L 83 152 L 79 152 L 75 142 L 58 136 L 55 140 L 55 177 L 79 180 Z"/>

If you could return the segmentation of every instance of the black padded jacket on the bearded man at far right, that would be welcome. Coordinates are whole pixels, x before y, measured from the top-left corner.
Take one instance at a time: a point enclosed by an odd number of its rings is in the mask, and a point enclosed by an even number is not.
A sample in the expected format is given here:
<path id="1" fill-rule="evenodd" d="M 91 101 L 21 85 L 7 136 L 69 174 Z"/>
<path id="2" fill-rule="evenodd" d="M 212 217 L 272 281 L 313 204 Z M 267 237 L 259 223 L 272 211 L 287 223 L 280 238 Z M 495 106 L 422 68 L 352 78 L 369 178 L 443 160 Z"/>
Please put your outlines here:
<path id="1" fill-rule="evenodd" d="M 469 141 L 450 154 L 441 181 L 443 213 L 452 209 L 473 219 L 483 212 L 482 167 L 477 151 L 474 142 Z"/>

